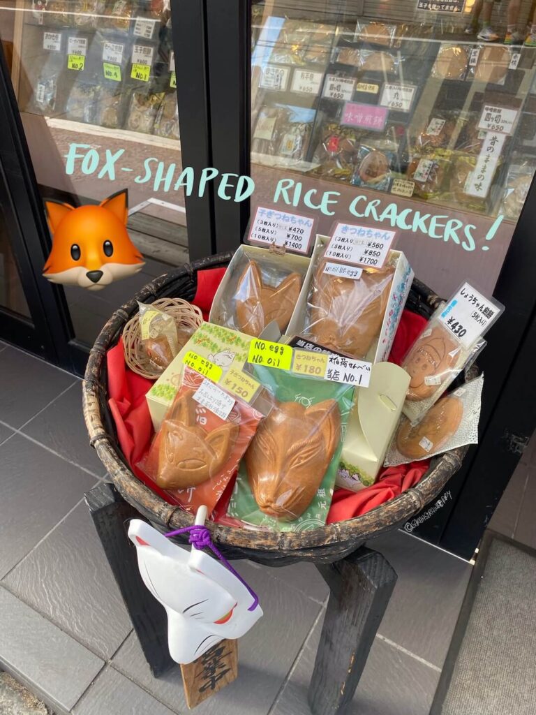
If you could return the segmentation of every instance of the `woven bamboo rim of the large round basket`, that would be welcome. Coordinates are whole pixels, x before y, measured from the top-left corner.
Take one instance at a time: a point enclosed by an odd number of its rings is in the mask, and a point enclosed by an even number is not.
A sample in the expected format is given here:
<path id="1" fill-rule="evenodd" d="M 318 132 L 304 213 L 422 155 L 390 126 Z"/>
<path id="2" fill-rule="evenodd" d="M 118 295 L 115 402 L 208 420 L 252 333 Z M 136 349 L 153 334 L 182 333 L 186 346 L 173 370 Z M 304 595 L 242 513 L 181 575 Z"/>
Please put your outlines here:
<path id="1" fill-rule="evenodd" d="M 189 275 L 193 279 L 194 273 L 200 268 L 221 265 L 227 262 L 231 255 L 230 252 L 215 255 L 164 274 L 147 284 L 134 298 L 116 310 L 102 328 L 91 348 L 82 382 L 84 420 L 89 433 L 89 443 L 95 448 L 97 455 L 106 466 L 114 485 L 131 506 L 171 528 L 191 526 L 194 523 L 194 517 L 179 506 L 164 501 L 126 467 L 116 452 L 103 423 L 99 400 L 99 388 L 102 385 L 98 378 L 105 362 L 106 351 L 111 347 L 108 340 L 111 330 L 114 329 L 114 332 L 119 330 L 121 325 L 124 325 L 137 311 L 137 300 L 140 300 L 140 296 L 143 296 L 144 300 L 151 296 L 161 297 L 161 294 L 158 294 L 165 285 L 182 276 Z M 299 555 L 299 551 L 315 547 L 341 545 L 357 539 L 364 541 L 372 536 L 378 536 L 379 533 L 383 533 L 389 528 L 394 528 L 397 524 L 407 521 L 415 513 L 421 511 L 440 493 L 450 477 L 460 468 L 467 450 L 468 446 L 464 446 L 440 455 L 435 458 L 435 464 L 430 467 L 415 487 L 402 492 L 397 497 L 361 516 L 346 521 L 326 524 L 321 528 L 302 532 L 261 531 L 247 527 L 224 526 L 209 521 L 207 521 L 207 527 L 211 531 L 214 541 L 226 546 L 242 549 L 254 548 L 266 552 L 294 552 L 297 555 Z"/>

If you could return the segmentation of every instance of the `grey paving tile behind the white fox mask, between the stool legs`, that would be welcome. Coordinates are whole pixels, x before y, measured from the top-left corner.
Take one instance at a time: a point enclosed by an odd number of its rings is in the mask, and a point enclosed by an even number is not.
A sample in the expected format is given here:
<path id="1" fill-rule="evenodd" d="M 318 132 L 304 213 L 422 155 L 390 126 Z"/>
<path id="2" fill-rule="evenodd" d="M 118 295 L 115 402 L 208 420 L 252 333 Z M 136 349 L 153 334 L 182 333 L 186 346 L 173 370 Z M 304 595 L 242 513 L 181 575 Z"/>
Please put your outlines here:
<path id="1" fill-rule="evenodd" d="M 267 568 L 252 568 L 245 561 L 234 566 L 259 595 L 264 616 L 240 638 L 237 680 L 197 706 L 196 715 L 267 713 L 320 610 L 310 598 L 268 576 Z M 112 665 L 170 708 L 187 711 L 179 668 L 154 679 L 134 633 Z"/>

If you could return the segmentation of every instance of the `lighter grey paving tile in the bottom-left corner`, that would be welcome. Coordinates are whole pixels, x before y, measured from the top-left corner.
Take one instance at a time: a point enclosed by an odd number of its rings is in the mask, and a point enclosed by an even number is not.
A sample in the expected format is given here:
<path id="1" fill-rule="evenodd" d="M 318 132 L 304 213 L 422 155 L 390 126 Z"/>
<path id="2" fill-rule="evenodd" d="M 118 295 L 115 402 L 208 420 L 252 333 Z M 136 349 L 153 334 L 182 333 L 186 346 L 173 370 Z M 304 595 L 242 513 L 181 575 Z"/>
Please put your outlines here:
<path id="1" fill-rule="evenodd" d="M 104 666 L 100 658 L 1 586 L 0 664 L 62 712 L 74 706 Z"/>

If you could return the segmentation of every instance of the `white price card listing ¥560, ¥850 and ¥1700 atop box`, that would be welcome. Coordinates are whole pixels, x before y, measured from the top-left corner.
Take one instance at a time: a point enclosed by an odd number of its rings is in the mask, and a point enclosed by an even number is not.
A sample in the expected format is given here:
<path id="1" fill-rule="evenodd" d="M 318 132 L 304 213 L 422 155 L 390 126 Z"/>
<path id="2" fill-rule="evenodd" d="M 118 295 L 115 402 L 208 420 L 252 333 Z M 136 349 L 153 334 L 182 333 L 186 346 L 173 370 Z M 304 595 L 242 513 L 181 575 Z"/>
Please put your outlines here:
<path id="1" fill-rule="evenodd" d="M 381 268 L 396 232 L 384 229 L 337 223 L 324 258 L 352 265 Z"/>

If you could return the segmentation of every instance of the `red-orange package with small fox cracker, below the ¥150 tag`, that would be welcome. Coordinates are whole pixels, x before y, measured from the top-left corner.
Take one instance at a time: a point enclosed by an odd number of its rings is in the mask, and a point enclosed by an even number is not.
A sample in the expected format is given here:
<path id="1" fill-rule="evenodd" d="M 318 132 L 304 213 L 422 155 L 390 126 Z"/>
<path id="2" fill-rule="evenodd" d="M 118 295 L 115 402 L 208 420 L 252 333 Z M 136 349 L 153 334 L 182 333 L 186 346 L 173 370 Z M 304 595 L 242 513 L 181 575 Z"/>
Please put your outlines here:
<path id="1" fill-rule="evenodd" d="M 214 400 L 219 414 L 205 406 L 201 393 L 208 403 Z M 226 418 L 220 416 L 229 408 Z M 139 467 L 186 511 L 196 513 L 204 504 L 211 513 L 263 416 L 185 367 L 179 392 Z"/>

